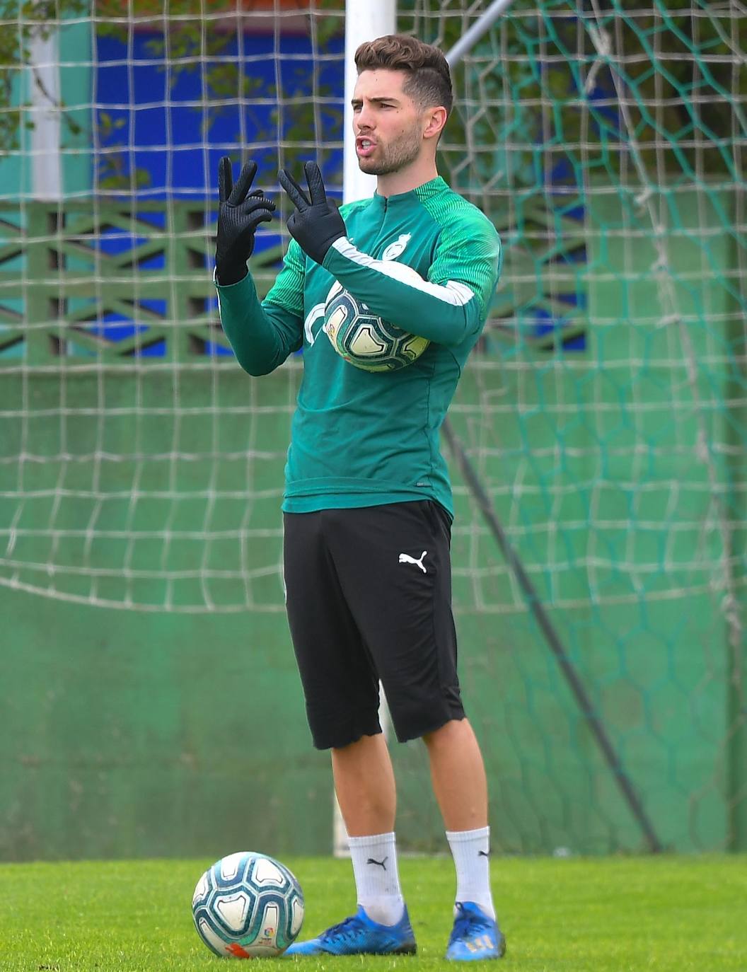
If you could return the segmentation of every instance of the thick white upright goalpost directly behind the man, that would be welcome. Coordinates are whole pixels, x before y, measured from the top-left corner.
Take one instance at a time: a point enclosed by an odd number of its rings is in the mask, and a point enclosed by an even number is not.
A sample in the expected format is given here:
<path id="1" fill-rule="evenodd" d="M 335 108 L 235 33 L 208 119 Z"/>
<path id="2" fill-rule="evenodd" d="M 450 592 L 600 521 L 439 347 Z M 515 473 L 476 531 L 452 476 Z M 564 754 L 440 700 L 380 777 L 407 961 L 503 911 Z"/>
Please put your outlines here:
<path id="1" fill-rule="evenodd" d="M 343 141 L 343 202 L 353 202 L 373 195 L 376 176 L 361 172 L 357 164 L 356 139 L 353 134 L 351 100 L 356 87 L 357 71 L 354 60 L 357 46 L 363 41 L 396 32 L 396 0 L 346 0 L 345 2 L 345 135 Z M 385 738 L 389 736 L 390 714 L 382 690 L 379 721 Z M 348 834 L 337 798 L 332 820 L 332 852 L 335 857 L 350 856 Z"/>

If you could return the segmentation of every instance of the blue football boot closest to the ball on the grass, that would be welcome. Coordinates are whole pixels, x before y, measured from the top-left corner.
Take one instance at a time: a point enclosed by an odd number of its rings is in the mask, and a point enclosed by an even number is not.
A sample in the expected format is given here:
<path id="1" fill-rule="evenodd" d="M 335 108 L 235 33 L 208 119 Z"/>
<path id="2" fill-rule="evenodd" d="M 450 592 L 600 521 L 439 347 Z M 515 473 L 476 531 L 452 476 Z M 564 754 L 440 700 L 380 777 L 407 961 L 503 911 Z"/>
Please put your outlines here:
<path id="1" fill-rule="evenodd" d="M 294 942 L 284 955 L 415 955 L 415 932 L 407 908 L 396 924 L 378 924 L 358 906 L 351 918 L 308 942 Z"/>

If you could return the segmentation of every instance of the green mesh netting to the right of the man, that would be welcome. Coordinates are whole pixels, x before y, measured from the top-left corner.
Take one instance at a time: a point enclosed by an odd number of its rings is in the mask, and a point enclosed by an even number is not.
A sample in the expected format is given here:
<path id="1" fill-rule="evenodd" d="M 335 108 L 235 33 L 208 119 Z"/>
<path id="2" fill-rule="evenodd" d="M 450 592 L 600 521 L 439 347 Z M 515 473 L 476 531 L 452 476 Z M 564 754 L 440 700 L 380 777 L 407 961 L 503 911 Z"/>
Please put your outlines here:
<path id="1" fill-rule="evenodd" d="M 406 22 L 449 49 L 457 6 Z M 451 420 L 562 652 L 459 485 L 506 850 L 744 846 L 743 13 L 519 2 L 458 66 L 506 269 Z"/>

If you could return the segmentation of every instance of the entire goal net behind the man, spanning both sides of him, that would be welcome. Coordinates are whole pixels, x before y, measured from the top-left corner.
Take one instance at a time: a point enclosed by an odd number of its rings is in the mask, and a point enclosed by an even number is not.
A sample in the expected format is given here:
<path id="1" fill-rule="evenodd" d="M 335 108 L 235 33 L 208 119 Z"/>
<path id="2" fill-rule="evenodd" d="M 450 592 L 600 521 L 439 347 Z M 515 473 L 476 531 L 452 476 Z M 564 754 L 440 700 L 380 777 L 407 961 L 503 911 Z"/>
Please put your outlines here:
<path id="1" fill-rule="evenodd" d="M 53 6 L 0 0 L 0 585 L 282 615 L 302 359 L 232 358 L 215 183 L 251 147 L 265 191 L 314 157 L 342 196 L 343 0 Z M 400 0 L 398 28 L 449 52 L 490 6 Z M 453 65 L 440 170 L 505 256 L 445 446 L 498 850 L 747 846 L 746 15 L 516 0 Z M 422 754 L 395 758 L 428 850 Z"/>

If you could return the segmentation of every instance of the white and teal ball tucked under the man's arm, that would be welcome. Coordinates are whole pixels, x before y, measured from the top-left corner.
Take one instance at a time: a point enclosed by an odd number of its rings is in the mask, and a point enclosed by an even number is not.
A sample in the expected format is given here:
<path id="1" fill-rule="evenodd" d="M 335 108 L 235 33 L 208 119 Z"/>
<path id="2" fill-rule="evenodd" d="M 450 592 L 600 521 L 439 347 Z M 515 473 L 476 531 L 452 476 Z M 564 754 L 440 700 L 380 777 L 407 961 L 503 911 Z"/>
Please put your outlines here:
<path id="1" fill-rule="evenodd" d="M 404 263 L 391 262 L 391 276 L 422 279 Z M 364 371 L 396 371 L 417 361 L 430 343 L 374 314 L 338 281 L 324 301 L 324 332 L 332 347 Z"/>

